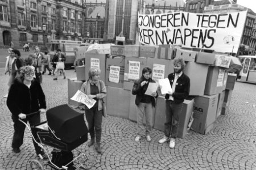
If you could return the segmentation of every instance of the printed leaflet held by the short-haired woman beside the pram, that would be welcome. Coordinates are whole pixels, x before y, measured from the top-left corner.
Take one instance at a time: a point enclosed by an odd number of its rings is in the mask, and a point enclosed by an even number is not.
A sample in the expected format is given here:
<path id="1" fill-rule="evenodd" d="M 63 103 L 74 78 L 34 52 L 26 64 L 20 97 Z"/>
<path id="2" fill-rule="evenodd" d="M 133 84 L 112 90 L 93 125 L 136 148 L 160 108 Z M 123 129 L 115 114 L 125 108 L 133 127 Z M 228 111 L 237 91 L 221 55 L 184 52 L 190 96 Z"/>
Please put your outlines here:
<path id="1" fill-rule="evenodd" d="M 93 105 L 96 103 L 96 100 L 88 97 L 82 91 L 77 90 L 76 94 L 71 97 L 71 100 L 77 101 L 79 103 L 85 104 L 88 109 L 92 108 Z"/>

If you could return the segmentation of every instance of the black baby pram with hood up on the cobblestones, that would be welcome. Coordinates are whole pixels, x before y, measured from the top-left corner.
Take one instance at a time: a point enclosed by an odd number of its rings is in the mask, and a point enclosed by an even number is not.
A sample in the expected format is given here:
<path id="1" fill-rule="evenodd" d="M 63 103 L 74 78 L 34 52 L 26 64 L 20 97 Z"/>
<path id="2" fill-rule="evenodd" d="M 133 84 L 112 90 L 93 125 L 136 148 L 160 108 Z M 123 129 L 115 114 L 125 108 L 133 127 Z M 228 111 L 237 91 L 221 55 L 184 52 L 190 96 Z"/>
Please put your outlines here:
<path id="1" fill-rule="evenodd" d="M 27 117 L 38 113 L 27 114 Z M 88 140 L 88 128 L 84 115 L 69 108 L 68 105 L 60 105 L 49 109 L 46 117 L 47 121 L 31 126 L 31 128 L 19 119 L 27 126 L 33 140 L 45 153 L 45 155 L 40 155 L 40 160 L 31 160 L 31 169 L 44 169 L 44 165 L 54 169 L 92 168 L 93 162 L 89 156 L 76 149 Z M 32 131 L 37 137 L 34 137 Z M 72 150 L 78 153 L 75 158 L 73 158 Z M 43 156 L 47 156 L 48 162 L 43 161 Z"/>

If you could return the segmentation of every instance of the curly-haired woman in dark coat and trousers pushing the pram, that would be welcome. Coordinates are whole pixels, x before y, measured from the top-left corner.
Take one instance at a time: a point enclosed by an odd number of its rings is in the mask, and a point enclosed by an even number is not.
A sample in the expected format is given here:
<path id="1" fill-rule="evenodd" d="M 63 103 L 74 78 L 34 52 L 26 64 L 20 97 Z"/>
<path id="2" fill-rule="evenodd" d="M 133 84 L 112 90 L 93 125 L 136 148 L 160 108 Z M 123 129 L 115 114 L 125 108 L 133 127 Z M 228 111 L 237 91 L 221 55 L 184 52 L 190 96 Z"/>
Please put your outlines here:
<path id="1" fill-rule="evenodd" d="M 14 122 L 13 151 L 20 152 L 19 147 L 23 143 L 24 130 L 26 126 L 19 121 L 22 118 L 24 122 L 30 123 L 30 126 L 40 123 L 40 114 L 26 117 L 33 112 L 46 112 L 46 97 L 40 83 L 34 79 L 34 71 L 30 66 L 20 68 L 19 76 L 15 78 L 7 97 L 7 107 L 12 113 L 11 118 Z M 33 132 L 32 132 L 33 133 Z M 37 135 L 33 133 L 36 140 Z M 33 141 L 34 142 L 34 141 Z M 34 142 L 36 154 L 44 155 L 42 148 Z"/>

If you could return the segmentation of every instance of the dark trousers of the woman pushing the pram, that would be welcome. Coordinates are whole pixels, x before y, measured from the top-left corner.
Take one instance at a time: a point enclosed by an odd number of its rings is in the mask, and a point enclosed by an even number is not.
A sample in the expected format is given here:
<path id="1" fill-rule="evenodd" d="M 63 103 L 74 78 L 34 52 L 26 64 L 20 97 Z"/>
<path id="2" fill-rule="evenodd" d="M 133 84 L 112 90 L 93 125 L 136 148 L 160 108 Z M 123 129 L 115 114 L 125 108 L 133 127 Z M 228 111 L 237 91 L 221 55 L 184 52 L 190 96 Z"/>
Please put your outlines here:
<path id="1" fill-rule="evenodd" d="M 20 146 L 22 146 L 23 144 L 23 138 L 24 138 L 24 131 L 26 126 L 24 124 L 22 124 L 22 122 L 20 122 L 18 120 L 17 116 L 11 116 L 11 118 L 13 119 L 14 122 L 14 134 L 13 134 L 13 143 L 11 144 L 12 148 L 19 148 Z M 27 123 L 27 121 L 30 123 L 30 126 L 36 125 L 40 123 L 40 114 L 35 114 L 34 116 L 31 116 L 29 118 L 26 118 L 23 120 L 24 122 Z M 32 134 L 34 136 L 34 138 L 36 139 L 36 141 L 39 142 L 39 138 L 38 135 L 36 134 L 35 131 L 32 131 Z M 40 148 L 33 140 L 34 143 L 34 147 L 35 147 L 35 151 L 36 154 L 41 154 L 42 152 L 42 148 Z"/>

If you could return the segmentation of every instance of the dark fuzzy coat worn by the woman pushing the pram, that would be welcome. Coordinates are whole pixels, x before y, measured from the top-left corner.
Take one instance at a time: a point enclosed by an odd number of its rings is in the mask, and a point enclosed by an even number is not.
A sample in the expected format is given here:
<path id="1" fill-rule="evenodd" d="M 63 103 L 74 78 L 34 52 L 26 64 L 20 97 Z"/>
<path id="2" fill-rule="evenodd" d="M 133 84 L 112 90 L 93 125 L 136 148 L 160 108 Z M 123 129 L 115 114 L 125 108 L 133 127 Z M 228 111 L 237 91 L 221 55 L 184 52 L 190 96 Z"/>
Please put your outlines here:
<path id="1" fill-rule="evenodd" d="M 46 96 L 44 96 L 40 83 L 33 80 L 28 88 L 16 78 L 7 97 L 7 107 L 13 116 L 37 112 L 41 108 L 46 109 Z"/>

